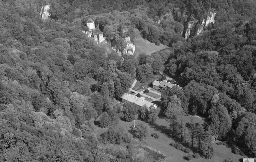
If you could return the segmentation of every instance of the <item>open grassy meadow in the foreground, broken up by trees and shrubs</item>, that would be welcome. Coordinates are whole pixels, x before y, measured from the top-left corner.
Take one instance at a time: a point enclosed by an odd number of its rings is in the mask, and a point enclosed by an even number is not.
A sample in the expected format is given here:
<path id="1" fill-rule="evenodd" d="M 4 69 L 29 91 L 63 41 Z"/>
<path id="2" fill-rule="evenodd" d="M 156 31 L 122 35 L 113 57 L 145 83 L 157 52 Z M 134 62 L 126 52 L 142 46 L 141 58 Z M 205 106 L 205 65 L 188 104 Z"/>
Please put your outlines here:
<path id="1" fill-rule="evenodd" d="M 192 117 L 193 121 L 196 123 L 203 123 L 203 120 L 196 117 L 196 116 L 188 116 L 185 120 L 188 122 L 190 120 L 190 117 Z M 138 124 L 140 120 L 135 121 L 135 125 Z M 142 121 L 143 122 L 143 121 Z M 147 123 L 146 123 L 147 124 Z M 119 121 L 119 125 L 121 125 L 126 132 L 131 132 L 131 129 L 129 126 L 133 125 L 133 121 L 131 122 L 125 122 L 125 121 Z M 183 151 L 180 151 L 172 146 L 170 146 L 171 142 L 175 142 L 174 139 L 170 138 L 168 132 L 169 132 L 169 123 L 165 119 L 157 119 L 156 123 L 153 125 L 147 124 L 149 127 L 149 137 L 144 141 L 139 141 L 137 138 L 134 138 L 132 141 L 132 144 L 137 148 L 136 155 L 135 156 L 149 156 L 149 152 L 147 149 L 143 149 L 143 147 L 150 148 L 150 150 L 154 150 L 161 155 L 166 156 L 166 162 L 187 162 L 183 157 L 188 154 L 193 154 L 191 151 L 190 153 L 185 153 Z M 97 134 L 98 138 L 100 137 L 100 134 L 105 132 L 107 128 L 100 128 L 97 127 Z M 157 132 L 159 134 L 159 138 L 156 139 L 151 136 L 152 133 Z M 228 158 L 235 158 L 236 161 L 239 162 L 239 159 L 243 158 L 241 155 L 236 155 L 231 152 L 231 148 L 228 148 L 224 145 L 217 145 L 216 143 L 219 141 L 214 142 L 214 148 L 216 150 L 215 155 L 212 159 L 205 159 L 205 158 L 199 158 L 195 159 L 192 158 L 190 162 L 223 162 L 225 159 Z M 143 147 L 142 147 L 143 146 Z M 112 145 L 107 144 L 103 145 L 101 144 L 101 147 L 115 147 L 116 149 L 124 149 L 123 145 Z M 153 160 L 151 160 L 153 161 Z"/>

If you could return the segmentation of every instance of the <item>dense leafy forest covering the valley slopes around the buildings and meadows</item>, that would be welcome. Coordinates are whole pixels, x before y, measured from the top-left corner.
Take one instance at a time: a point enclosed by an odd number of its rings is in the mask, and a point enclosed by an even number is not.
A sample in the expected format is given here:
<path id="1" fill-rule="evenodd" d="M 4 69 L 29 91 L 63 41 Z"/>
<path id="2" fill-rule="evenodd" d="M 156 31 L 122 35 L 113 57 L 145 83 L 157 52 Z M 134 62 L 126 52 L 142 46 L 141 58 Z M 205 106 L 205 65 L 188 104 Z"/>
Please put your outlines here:
<path id="1" fill-rule="evenodd" d="M 42 20 L 47 4 L 51 16 Z M 132 135 L 118 121 L 138 114 L 152 124 L 159 112 L 173 137 L 204 158 L 214 155 L 212 138 L 256 156 L 255 1 L 1 0 L 0 7 L 0 161 L 147 161 L 132 158 Z M 215 23 L 184 39 L 190 18 L 212 9 Z M 82 34 L 89 19 L 110 44 Z M 134 28 L 169 48 L 121 59 L 111 45 L 123 48 L 126 36 L 134 42 Z M 159 72 L 183 87 L 163 91 L 160 110 L 120 105 L 133 79 Z M 205 123 L 186 126 L 191 113 Z M 143 140 L 146 127 L 138 126 Z M 99 136 L 126 151 L 100 148 Z"/>

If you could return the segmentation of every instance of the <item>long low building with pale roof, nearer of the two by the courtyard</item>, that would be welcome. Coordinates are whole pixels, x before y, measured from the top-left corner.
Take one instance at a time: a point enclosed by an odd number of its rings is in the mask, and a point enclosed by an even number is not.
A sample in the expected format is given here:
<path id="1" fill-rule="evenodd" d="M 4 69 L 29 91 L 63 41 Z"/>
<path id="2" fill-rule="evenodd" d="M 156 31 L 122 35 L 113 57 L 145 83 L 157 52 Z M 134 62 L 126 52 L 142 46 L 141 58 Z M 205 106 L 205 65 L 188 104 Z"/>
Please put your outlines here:
<path id="1" fill-rule="evenodd" d="M 134 103 L 140 107 L 143 107 L 144 105 L 146 105 L 148 108 L 150 106 L 154 106 L 155 108 L 157 107 L 156 104 L 153 104 L 152 102 L 149 102 L 149 101 L 146 101 L 145 100 L 145 97 L 141 97 L 141 98 L 138 98 L 134 95 L 131 95 L 131 94 L 128 94 L 128 93 L 125 93 L 122 97 L 122 102 L 125 103 L 125 102 L 131 102 L 131 103 Z"/>

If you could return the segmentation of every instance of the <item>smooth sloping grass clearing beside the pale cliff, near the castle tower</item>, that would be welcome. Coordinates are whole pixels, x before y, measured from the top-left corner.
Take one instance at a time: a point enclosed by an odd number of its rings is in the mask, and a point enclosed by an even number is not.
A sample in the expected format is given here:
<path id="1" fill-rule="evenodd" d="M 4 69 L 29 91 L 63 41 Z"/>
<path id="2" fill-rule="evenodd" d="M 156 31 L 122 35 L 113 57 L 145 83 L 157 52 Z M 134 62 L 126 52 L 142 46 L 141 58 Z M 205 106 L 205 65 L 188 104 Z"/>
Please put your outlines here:
<path id="1" fill-rule="evenodd" d="M 134 44 L 135 44 L 135 51 L 134 51 L 135 57 L 138 56 L 138 54 L 140 54 L 140 53 L 145 53 L 145 54 L 149 55 L 149 54 L 154 53 L 156 51 L 168 48 L 168 46 L 166 46 L 166 45 L 160 44 L 158 46 L 158 45 L 155 45 L 155 43 L 151 43 L 148 40 L 143 39 L 138 29 L 134 29 L 134 31 L 138 35 L 138 38 L 134 42 Z"/>

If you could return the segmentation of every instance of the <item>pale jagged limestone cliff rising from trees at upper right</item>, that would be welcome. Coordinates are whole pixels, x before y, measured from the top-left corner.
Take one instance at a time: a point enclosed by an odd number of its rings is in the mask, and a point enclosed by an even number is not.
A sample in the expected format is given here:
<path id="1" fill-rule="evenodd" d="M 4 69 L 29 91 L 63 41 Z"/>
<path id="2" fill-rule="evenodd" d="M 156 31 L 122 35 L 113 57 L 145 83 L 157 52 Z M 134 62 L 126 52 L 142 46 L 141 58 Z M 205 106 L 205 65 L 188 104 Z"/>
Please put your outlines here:
<path id="1" fill-rule="evenodd" d="M 199 35 L 202 31 L 210 24 L 214 23 L 216 12 L 209 11 L 207 16 L 202 20 L 198 21 L 197 19 L 190 18 L 185 25 L 183 36 L 187 39 L 190 35 Z"/>

